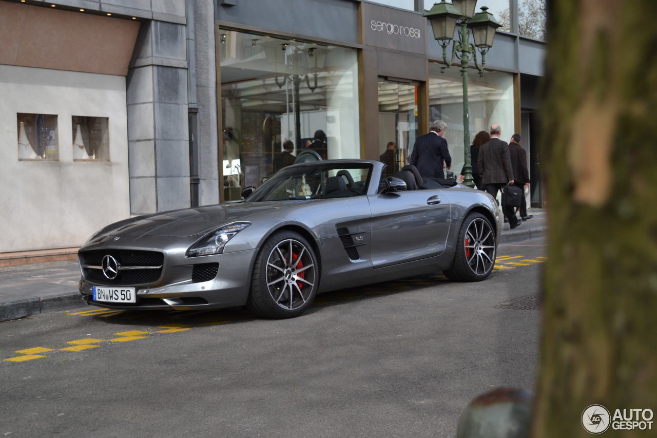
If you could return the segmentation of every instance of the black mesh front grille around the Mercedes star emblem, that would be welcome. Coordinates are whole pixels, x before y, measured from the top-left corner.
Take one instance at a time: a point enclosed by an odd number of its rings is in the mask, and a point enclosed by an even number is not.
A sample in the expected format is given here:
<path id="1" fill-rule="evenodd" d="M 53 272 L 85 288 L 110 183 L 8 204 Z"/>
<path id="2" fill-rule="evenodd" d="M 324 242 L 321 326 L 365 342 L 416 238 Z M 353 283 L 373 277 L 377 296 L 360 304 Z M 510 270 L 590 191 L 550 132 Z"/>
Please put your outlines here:
<path id="1" fill-rule="evenodd" d="M 102 258 L 110 255 L 116 258 L 120 267 L 125 266 L 162 266 L 164 254 L 157 251 L 139 251 L 131 249 L 95 249 L 79 253 L 81 265 L 101 266 Z M 137 285 L 149 284 L 158 281 L 162 275 L 162 268 L 122 270 L 110 280 L 102 274 L 102 270 L 83 268 L 84 277 L 98 285 Z"/>

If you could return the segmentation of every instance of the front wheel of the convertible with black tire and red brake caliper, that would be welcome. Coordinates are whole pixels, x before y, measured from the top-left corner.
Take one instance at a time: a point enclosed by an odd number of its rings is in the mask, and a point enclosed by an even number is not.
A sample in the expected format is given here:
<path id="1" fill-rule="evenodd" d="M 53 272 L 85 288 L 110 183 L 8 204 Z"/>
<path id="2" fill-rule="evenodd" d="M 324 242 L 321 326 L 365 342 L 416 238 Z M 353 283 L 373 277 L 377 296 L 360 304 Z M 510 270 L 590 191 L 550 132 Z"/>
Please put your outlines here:
<path id="1" fill-rule="evenodd" d="M 313 302 L 318 285 L 313 247 L 299 233 L 278 231 L 256 256 L 247 305 L 263 318 L 294 318 Z"/>

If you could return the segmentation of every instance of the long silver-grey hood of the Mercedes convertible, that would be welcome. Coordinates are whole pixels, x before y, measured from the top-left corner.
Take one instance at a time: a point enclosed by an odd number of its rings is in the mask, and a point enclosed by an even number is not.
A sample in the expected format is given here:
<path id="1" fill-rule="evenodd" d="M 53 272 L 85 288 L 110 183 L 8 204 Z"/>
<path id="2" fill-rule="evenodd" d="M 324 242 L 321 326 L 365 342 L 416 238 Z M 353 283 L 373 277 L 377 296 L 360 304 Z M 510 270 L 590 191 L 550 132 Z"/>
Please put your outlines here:
<path id="1" fill-rule="evenodd" d="M 237 220 L 249 220 L 273 208 L 290 208 L 297 203 L 298 201 L 238 203 L 172 210 L 117 222 L 102 230 L 101 234 L 188 237 L 212 231 Z"/>

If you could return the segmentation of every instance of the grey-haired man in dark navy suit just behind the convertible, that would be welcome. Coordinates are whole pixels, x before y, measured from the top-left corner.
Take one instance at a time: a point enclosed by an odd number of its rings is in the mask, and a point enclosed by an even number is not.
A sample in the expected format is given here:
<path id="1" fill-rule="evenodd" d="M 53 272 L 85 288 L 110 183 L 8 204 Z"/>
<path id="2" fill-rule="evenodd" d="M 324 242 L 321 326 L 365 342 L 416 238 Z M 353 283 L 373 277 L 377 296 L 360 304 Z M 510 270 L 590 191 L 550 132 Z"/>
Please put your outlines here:
<path id="1" fill-rule="evenodd" d="M 443 161 L 448 170 L 451 168 L 447 140 L 443 138 L 446 129 L 445 122 L 436 120 L 431 124 L 429 134 L 420 135 L 415 139 L 411 164 L 417 167 L 422 178 L 445 178 Z"/>

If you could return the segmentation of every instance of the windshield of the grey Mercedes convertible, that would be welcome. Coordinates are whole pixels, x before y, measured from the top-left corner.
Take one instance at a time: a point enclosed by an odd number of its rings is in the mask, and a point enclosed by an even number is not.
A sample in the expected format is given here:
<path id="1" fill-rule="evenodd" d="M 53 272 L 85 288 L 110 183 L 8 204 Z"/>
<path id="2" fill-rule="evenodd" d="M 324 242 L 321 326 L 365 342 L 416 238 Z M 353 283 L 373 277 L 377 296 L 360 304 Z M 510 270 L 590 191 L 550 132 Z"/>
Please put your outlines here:
<path id="1" fill-rule="evenodd" d="M 263 183 L 245 202 L 365 195 L 371 172 L 372 165 L 367 163 L 313 163 L 284 168 Z"/>

